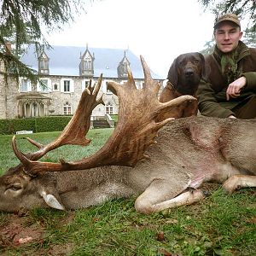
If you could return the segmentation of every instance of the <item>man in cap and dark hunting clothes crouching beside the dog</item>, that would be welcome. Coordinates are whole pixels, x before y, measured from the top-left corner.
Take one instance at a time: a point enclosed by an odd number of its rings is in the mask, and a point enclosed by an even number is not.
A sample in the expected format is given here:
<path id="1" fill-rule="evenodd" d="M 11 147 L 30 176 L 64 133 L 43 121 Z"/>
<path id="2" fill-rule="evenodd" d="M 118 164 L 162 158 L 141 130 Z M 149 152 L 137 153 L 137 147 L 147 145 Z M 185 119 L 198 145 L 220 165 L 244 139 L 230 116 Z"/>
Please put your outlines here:
<path id="1" fill-rule="evenodd" d="M 199 85 L 203 115 L 220 118 L 256 117 L 256 49 L 241 42 L 236 15 L 226 14 L 214 25 L 215 48 L 206 56 L 207 80 Z"/>

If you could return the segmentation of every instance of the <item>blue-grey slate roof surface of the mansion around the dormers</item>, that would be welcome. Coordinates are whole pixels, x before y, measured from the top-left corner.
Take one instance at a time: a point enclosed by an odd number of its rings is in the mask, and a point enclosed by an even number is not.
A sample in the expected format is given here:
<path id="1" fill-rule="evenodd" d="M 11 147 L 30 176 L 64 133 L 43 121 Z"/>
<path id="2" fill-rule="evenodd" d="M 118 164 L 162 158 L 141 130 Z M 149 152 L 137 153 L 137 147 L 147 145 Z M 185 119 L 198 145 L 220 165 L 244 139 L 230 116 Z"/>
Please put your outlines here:
<path id="1" fill-rule="evenodd" d="M 135 79 L 143 79 L 143 67 L 137 55 L 130 49 L 110 49 L 110 48 L 88 48 L 90 54 L 95 57 L 94 76 L 101 73 L 105 78 L 118 78 L 117 67 L 124 55 L 130 61 L 131 73 Z M 86 47 L 59 46 L 52 45 L 51 49 L 44 49 L 49 57 L 49 74 L 61 76 L 79 76 L 80 56 L 84 55 Z M 21 61 L 27 66 L 38 70 L 38 57 L 35 47 L 31 44 L 26 53 L 21 57 Z M 160 75 L 151 71 L 153 79 L 163 79 Z"/>

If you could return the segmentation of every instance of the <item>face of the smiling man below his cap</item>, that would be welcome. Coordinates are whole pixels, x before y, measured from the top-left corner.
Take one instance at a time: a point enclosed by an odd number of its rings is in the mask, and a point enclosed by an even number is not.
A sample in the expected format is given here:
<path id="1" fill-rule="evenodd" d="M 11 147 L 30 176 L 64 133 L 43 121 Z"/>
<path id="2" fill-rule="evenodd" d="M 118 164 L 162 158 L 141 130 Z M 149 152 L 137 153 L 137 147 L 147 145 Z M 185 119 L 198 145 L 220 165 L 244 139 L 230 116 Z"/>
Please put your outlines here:
<path id="1" fill-rule="evenodd" d="M 228 21 L 221 23 L 214 32 L 216 45 L 224 53 L 236 49 L 241 36 L 240 27 Z"/>

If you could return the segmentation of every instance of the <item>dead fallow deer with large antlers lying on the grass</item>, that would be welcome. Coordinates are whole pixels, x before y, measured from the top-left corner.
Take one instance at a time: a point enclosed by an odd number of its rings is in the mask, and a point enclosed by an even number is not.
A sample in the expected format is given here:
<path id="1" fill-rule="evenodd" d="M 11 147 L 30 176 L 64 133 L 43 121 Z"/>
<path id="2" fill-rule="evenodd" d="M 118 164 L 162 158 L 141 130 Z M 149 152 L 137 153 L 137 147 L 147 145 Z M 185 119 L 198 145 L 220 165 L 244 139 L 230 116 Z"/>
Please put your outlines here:
<path id="1" fill-rule="evenodd" d="M 73 162 L 38 161 L 65 144 L 87 145 L 90 113 L 102 77 L 84 90 L 73 119 L 55 142 L 22 154 L 12 144 L 20 165 L 0 177 L 0 210 L 90 207 L 119 197 L 138 195 L 138 212 L 152 213 L 189 205 L 205 197 L 201 184 L 224 183 L 233 192 L 256 186 L 256 120 L 189 117 L 162 119 L 173 108 L 187 108 L 193 96 L 158 100 L 160 85 L 141 58 L 145 82 L 137 90 L 131 72 L 125 85 L 108 83 L 119 97 L 119 122 L 95 154 Z"/>

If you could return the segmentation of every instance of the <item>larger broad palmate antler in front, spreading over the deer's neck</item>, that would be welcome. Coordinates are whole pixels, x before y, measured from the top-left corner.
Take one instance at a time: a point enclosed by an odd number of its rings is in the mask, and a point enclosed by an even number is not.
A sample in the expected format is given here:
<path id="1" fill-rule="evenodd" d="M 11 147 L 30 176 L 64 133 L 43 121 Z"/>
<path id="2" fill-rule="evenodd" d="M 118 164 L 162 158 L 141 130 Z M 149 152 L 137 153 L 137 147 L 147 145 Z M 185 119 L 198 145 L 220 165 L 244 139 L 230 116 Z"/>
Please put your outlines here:
<path id="1" fill-rule="evenodd" d="M 14 139 L 15 154 L 25 166 L 26 171 L 31 173 L 59 172 L 83 170 L 96 166 L 135 166 L 138 160 L 146 157 L 144 152 L 148 145 L 154 143 L 157 131 L 170 120 L 158 121 L 158 117 L 183 103 L 195 101 L 195 98 L 180 96 L 170 102 L 160 103 L 158 100 L 160 84 L 151 78 L 148 65 L 142 56 L 141 61 L 145 79 L 142 90 L 137 90 L 130 70 L 127 83 L 121 85 L 108 82 L 108 88 L 119 97 L 119 122 L 108 142 L 96 154 L 68 163 L 63 160 L 61 163 L 32 161 L 20 153 L 15 146 Z M 86 122 L 89 117 L 84 119 Z M 84 120 L 79 118 L 76 125 L 82 125 L 80 122 L 84 124 Z M 65 130 L 70 131 L 68 126 Z M 67 141 L 68 139 L 67 136 Z"/>

